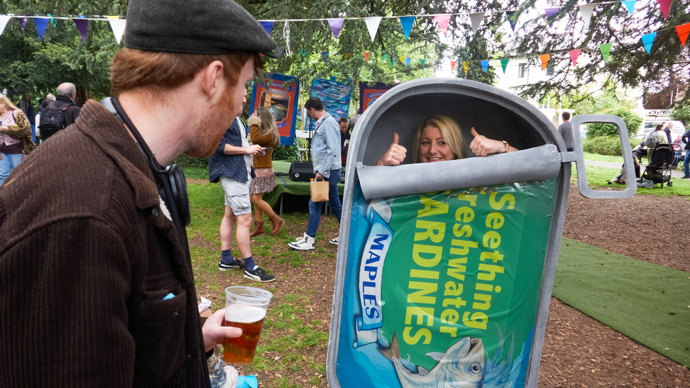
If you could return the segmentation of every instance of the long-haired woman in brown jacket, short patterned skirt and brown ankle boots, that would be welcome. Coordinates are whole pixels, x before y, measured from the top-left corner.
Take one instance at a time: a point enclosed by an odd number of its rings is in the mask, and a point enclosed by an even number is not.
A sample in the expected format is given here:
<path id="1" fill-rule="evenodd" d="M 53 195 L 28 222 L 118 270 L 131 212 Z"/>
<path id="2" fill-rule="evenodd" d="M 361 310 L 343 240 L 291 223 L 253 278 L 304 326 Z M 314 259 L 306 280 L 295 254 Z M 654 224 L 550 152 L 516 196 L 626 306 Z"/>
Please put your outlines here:
<path id="1" fill-rule="evenodd" d="M 256 178 L 252 179 L 249 186 L 249 194 L 254 205 L 254 230 L 250 236 L 264 234 L 264 213 L 268 215 L 273 228 L 270 234 L 275 235 L 285 225 L 283 218 L 280 218 L 273 208 L 264 201 L 264 194 L 272 192 L 275 187 L 275 172 L 273 171 L 273 150 L 279 147 L 280 137 L 278 128 L 275 126 L 275 119 L 270 110 L 257 108 L 249 116 L 249 138 L 254 144 L 264 148 L 263 154 L 254 155 L 254 172 Z"/>

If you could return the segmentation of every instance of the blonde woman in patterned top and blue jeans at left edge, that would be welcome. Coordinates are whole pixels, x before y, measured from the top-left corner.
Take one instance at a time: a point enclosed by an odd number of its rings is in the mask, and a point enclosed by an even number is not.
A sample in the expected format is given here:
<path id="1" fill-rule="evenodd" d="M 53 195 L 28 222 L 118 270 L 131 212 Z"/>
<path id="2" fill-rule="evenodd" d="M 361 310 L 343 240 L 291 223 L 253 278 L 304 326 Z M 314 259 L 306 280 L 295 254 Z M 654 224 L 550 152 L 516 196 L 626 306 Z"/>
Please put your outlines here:
<path id="1" fill-rule="evenodd" d="M 0 94 L 0 185 L 36 145 L 31 141 L 31 124 L 24 112 Z"/>

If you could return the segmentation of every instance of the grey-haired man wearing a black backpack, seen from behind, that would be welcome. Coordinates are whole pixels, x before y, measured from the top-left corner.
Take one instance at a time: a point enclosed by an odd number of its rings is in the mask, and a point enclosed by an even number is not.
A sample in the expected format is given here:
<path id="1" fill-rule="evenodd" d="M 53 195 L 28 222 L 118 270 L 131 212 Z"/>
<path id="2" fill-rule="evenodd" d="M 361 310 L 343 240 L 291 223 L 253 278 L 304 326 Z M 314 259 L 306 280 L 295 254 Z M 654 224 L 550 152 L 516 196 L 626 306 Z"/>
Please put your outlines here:
<path id="1" fill-rule="evenodd" d="M 57 87 L 57 99 L 41 110 L 41 139 L 46 141 L 55 132 L 75 122 L 79 107 L 75 104 L 77 88 L 74 83 L 65 82 Z"/>

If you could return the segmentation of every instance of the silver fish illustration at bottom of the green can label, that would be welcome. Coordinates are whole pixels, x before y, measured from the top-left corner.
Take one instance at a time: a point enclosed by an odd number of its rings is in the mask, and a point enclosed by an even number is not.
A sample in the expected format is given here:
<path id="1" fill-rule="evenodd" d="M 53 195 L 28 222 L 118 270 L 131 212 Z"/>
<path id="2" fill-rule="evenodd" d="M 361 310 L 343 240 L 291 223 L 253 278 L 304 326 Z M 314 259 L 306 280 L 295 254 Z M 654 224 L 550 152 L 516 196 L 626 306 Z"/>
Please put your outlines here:
<path id="1" fill-rule="evenodd" d="M 391 349 L 379 351 L 395 365 L 403 388 L 481 388 L 484 382 L 484 345 L 479 338 L 466 336 L 446 349 L 445 353 L 427 353 L 426 356 L 433 358 L 437 364 L 431 371 L 417 366 L 417 373 L 410 371 L 400 360 L 400 345 L 395 333 Z"/>

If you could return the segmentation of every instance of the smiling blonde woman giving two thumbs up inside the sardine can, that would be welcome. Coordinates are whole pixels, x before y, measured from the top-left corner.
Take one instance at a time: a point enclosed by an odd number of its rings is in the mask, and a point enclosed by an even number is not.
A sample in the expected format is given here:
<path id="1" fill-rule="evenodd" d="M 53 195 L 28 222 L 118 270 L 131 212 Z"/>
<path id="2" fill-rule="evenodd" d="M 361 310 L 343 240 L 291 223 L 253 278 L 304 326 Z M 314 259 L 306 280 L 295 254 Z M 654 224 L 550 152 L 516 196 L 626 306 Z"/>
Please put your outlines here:
<path id="1" fill-rule="evenodd" d="M 482 136 L 470 128 L 473 136 L 470 150 L 476 156 L 502 154 L 517 151 L 506 141 L 498 141 Z M 376 163 L 376 165 L 400 165 L 406 158 L 407 149 L 398 144 L 397 133 L 393 134 L 393 143 Z M 415 133 L 412 163 L 452 161 L 465 157 L 464 141 L 460 125 L 447 116 L 431 116 L 422 121 Z"/>

